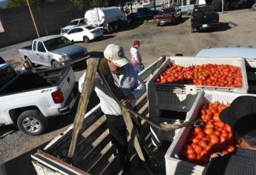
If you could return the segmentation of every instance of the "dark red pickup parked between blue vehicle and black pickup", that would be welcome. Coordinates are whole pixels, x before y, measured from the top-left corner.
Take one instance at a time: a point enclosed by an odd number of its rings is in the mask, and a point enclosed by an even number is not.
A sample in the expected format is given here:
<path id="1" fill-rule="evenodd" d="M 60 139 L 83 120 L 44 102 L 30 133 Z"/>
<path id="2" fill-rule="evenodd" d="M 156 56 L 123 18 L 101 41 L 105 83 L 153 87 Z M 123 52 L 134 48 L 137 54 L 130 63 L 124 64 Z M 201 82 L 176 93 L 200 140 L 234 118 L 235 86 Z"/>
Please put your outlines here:
<path id="1" fill-rule="evenodd" d="M 182 13 L 179 7 L 166 7 L 160 10 L 160 13 L 156 16 L 154 16 L 154 22 L 157 24 L 157 26 L 161 24 L 176 24 L 177 21 L 180 21 L 182 19 Z"/>

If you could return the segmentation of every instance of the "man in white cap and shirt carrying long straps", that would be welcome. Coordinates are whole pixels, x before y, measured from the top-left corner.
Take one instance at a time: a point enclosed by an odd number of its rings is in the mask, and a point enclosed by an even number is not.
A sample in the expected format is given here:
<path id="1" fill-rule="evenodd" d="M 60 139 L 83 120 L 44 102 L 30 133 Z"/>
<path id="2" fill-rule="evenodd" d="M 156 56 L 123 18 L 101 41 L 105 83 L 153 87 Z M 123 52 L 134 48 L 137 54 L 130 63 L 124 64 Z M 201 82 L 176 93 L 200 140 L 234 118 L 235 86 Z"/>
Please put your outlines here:
<path id="1" fill-rule="evenodd" d="M 124 49 L 118 44 L 108 44 L 104 50 L 104 57 L 108 59 L 108 66 L 114 79 L 114 83 L 125 94 L 122 99 L 122 105 L 131 104 L 135 106 L 136 99 L 145 90 L 145 85 L 134 70 L 133 65 L 125 57 Z M 79 91 L 82 91 L 82 85 L 85 79 L 85 73 L 79 79 Z M 122 112 L 117 102 L 105 89 L 102 80 L 96 73 L 94 81 L 95 91 L 99 96 L 100 106 L 107 118 L 107 125 L 111 134 L 112 142 L 116 145 L 119 152 L 120 163 L 124 171 L 129 168 L 128 141 L 126 136 L 126 126 L 122 118 Z"/>

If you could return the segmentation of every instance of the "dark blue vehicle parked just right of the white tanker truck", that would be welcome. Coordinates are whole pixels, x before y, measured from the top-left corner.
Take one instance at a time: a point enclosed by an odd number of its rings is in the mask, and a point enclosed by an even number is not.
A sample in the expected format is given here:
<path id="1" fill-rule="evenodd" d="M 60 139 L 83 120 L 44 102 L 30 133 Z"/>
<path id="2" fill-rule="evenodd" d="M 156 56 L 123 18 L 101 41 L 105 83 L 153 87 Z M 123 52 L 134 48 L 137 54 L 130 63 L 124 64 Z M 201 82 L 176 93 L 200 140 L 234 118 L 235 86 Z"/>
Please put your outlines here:
<path id="1" fill-rule="evenodd" d="M 160 10 L 151 10 L 149 8 L 138 8 L 136 13 L 130 13 L 128 16 L 130 19 L 154 19 Z"/>

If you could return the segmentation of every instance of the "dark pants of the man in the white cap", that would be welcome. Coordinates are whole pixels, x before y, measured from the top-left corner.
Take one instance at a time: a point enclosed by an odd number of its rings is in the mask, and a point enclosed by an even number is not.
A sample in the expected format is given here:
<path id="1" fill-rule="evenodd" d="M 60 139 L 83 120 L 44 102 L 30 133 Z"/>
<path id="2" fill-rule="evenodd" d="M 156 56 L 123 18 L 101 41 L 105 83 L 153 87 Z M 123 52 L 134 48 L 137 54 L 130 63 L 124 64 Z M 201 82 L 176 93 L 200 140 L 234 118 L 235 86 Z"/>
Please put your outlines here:
<path id="1" fill-rule="evenodd" d="M 125 121 L 122 116 L 112 116 L 105 114 L 107 118 L 108 130 L 111 135 L 111 140 L 116 145 L 119 153 L 120 163 L 122 167 L 129 162 L 128 156 L 128 141 L 126 136 Z"/>

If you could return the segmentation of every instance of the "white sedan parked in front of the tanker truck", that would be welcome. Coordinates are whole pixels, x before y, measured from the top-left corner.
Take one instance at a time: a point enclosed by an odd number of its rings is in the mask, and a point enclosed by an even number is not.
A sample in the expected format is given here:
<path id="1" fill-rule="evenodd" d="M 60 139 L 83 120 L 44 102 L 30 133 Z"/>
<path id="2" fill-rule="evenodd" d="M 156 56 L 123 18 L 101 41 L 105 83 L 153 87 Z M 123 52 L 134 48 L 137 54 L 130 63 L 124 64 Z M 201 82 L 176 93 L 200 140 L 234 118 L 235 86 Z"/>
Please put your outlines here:
<path id="1" fill-rule="evenodd" d="M 73 27 L 68 33 L 63 33 L 62 36 L 67 37 L 72 42 L 91 42 L 93 39 L 103 36 L 103 27 L 93 27 L 92 25 Z"/>

